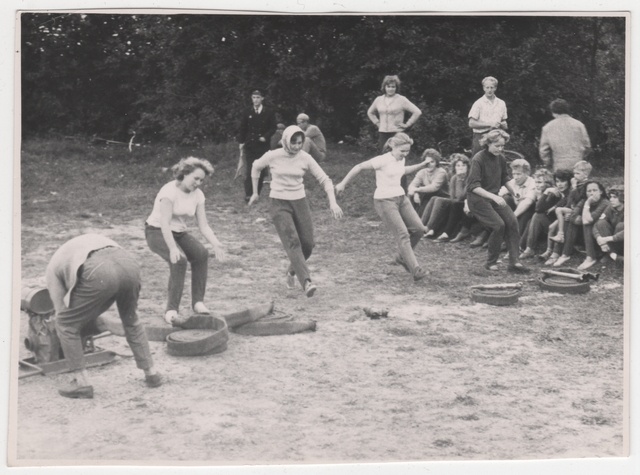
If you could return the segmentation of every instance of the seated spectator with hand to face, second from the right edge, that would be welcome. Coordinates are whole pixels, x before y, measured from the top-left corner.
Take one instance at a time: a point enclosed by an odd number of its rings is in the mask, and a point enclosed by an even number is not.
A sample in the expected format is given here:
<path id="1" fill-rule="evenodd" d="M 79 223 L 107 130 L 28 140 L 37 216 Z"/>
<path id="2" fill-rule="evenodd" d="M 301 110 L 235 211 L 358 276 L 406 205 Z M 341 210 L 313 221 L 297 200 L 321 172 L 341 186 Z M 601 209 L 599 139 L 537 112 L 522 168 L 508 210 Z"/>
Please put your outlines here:
<path id="1" fill-rule="evenodd" d="M 555 262 L 554 267 L 560 267 L 571 259 L 578 239 L 584 239 L 587 258 L 578 266 L 579 270 L 586 270 L 598 262 L 596 240 L 593 237 L 593 225 L 611 206 L 602 183 L 588 181 L 585 185 L 587 198 L 581 200 L 574 209 L 568 221 L 562 255 Z"/>

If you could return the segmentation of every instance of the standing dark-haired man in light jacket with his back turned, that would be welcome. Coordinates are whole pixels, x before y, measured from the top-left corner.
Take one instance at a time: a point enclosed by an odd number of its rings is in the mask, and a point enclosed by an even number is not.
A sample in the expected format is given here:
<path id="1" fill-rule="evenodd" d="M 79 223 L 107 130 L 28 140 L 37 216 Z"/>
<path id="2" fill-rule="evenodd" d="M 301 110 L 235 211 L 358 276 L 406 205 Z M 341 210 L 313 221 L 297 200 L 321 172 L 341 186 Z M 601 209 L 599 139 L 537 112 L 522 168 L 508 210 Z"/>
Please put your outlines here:
<path id="1" fill-rule="evenodd" d="M 569 115 L 569 103 L 564 99 L 552 101 L 549 109 L 554 118 L 542 127 L 540 158 L 553 172 L 572 170 L 576 163 L 591 154 L 589 134 L 582 122 Z"/>

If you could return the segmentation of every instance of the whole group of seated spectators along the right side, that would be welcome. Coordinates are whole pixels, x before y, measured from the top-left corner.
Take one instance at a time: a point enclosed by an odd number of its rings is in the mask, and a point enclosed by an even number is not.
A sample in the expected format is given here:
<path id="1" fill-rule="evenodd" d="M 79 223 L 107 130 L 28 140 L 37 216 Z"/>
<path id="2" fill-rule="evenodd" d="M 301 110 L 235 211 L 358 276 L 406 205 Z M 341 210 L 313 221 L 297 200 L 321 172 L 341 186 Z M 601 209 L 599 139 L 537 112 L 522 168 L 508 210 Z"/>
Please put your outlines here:
<path id="1" fill-rule="evenodd" d="M 439 243 L 474 237 L 471 247 L 486 247 L 489 230 L 474 218 L 466 201 L 470 159 L 452 154 L 449 170 L 441 166 L 441 154 L 435 149 L 425 150 L 422 159 L 429 165 L 415 175 L 407 194 L 427 228 L 425 237 Z M 576 163 L 573 170 L 553 173 L 540 168 L 533 175 L 525 159 L 513 160 L 509 166 L 511 186 L 503 186 L 500 196 L 518 221 L 520 259 L 537 256 L 547 266 L 560 267 L 582 244 L 587 257 L 579 270 L 592 267 L 604 256 L 622 261 L 622 185 L 606 190 L 602 183 L 590 180 L 592 165 L 586 161 Z"/>

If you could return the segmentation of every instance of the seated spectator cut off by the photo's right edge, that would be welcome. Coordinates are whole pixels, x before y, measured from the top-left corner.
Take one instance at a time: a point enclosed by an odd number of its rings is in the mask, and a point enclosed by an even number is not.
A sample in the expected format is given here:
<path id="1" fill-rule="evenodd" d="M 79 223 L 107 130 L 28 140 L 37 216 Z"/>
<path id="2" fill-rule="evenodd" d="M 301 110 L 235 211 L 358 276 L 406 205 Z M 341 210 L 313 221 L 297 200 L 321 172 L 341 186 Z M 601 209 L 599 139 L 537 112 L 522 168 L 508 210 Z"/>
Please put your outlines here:
<path id="1" fill-rule="evenodd" d="M 621 260 L 624 255 L 624 187 L 612 186 L 609 189 L 611 206 L 593 225 L 593 237 L 600 250 L 613 261 Z"/>

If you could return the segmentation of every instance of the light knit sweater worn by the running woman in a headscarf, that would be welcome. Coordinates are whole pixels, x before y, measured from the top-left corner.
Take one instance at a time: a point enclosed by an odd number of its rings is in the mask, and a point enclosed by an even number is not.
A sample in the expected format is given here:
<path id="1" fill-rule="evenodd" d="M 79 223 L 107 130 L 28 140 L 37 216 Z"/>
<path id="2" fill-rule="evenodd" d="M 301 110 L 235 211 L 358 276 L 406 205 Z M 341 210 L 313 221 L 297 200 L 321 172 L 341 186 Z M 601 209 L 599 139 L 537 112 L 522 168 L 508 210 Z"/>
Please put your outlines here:
<path id="1" fill-rule="evenodd" d="M 290 155 L 284 148 L 265 153 L 253 162 L 251 177 L 258 178 L 260 172 L 269 167 L 271 170 L 271 191 L 269 197 L 279 200 L 299 200 L 306 196 L 303 178 L 307 172 L 318 180 L 327 194 L 333 191 L 331 178 L 322 170 L 311 155 L 301 150 Z"/>

